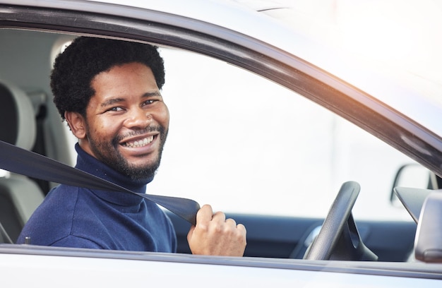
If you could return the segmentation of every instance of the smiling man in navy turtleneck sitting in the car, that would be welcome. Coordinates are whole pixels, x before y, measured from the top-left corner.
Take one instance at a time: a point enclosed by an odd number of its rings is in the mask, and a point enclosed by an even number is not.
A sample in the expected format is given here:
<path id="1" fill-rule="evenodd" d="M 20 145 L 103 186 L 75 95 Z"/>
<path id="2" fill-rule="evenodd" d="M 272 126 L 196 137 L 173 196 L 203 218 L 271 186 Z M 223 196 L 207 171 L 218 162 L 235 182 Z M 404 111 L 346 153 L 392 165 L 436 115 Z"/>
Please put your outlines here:
<path id="1" fill-rule="evenodd" d="M 61 118 L 78 138 L 78 169 L 145 193 L 160 165 L 169 111 L 165 71 L 148 44 L 78 37 L 54 64 L 51 87 Z M 176 251 L 168 217 L 127 193 L 60 185 L 49 192 L 18 243 L 130 251 Z M 246 229 L 204 205 L 188 234 L 192 253 L 242 256 Z"/>

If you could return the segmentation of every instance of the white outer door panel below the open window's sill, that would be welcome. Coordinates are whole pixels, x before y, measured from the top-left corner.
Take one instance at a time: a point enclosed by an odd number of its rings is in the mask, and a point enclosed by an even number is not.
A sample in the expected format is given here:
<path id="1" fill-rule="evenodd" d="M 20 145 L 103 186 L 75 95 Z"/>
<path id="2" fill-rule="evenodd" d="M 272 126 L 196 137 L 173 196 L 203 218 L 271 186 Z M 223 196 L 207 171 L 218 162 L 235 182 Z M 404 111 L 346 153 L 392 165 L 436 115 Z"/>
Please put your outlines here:
<path id="1" fill-rule="evenodd" d="M 413 287 L 424 284 L 425 287 L 437 287 L 441 275 L 435 270 L 414 266 L 414 271 L 405 268 L 403 263 L 386 265 L 379 273 L 370 263 L 354 265 L 342 262 L 324 263 L 323 261 L 278 260 L 260 258 L 209 258 L 186 254 L 136 253 L 118 251 L 90 251 L 88 249 L 41 248 L 32 252 L 27 247 L 6 246 L 0 248 L 1 271 L 8 277 L 20 277 L 20 269 L 29 271 L 23 282 L 44 281 L 48 285 L 57 284 L 140 284 L 149 281 L 157 284 L 182 287 L 194 287 L 210 282 L 213 287 L 225 287 L 226 284 L 244 284 L 253 282 L 256 287 L 292 284 L 323 287 L 339 283 L 339 287 Z M 21 253 L 25 254 L 23 256 Z M 26 255 L 30 254 L 32 255 Z M 5 265 L 4 263 L 8 263 Z M 48 277 L 44 271 L 52 271 Z M 198 272 L 196 272 L 198 271 Z M 321 274 L 318 274 L 321 271 Z M 19 273 L 18 275 L 16 273 Z M 171 277 L 171 273 L 174 277 Z M 196 276 L 198 273 L 198 276 Z M 76 275 L 72 278 L 71 275 Z M 92 277 L 93 275 L 93 277 Z M 144 277 L 143 277 L 144 276 Z M 414 278 L 413 278 L 414 277 Z M 69 279 L 66 282 L 66 279 Z M 141 280 L 141 281 L 140 281 Z M 320 286 L 321 285 L 321 286 Z M 332 284 L 333 285 L 333 284 Z M 414 286 L 415 287 L 415 286 Z"/>

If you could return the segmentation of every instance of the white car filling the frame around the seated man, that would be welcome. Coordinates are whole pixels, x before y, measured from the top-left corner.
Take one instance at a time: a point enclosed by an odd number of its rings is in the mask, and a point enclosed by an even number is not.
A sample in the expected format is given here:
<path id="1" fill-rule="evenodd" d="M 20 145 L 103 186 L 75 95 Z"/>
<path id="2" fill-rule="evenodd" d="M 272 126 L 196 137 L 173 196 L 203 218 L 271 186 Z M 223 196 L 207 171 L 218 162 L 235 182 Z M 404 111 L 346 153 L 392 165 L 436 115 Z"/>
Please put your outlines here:
<path id="1" fill-rule="evenodd" d="M 147 193 L 247 229 L 242 258 L 191 255 L 189 222 L 168 211 L 178 253 L 11 244 L 57 183 L 40 157 L 4 148 L 1 283 L 440 287 L 441 6 L 308 2 L 0 0 L 0 140 L 72 166 L 55 56 L 78 35 L 155 44 L 171 124 Z M 420 50 L 382 34 L 403 30 Z"/>

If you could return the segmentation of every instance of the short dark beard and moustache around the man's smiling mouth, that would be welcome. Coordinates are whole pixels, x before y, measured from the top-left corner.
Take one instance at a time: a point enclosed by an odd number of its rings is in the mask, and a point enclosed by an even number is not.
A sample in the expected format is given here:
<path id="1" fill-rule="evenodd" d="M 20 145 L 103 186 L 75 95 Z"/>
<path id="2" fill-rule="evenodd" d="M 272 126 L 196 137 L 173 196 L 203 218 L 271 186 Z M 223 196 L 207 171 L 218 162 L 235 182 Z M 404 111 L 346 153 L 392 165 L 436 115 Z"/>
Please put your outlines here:
<path id="1" fill-rule="evenodd" d="M 153 178 L 157 172 L 158 167 L 160 167 L 162 150 L 164 148 L 167 130 L 163 126 L 149 126 L 144 129 L 136 129 L 130 133 L 130 136 L 136 136 L 143 133 L 158 131 L 160 132 L 160 145 L 157 152 L 157 158 L 153 162 L 146 163 L 143 165 L 131 164 L 126 158 L 121 155 L 119 151 L 119 141 L 124 137 L 128 136 L 115 136 L 112 140 L 102 141 L 91 136 L 89 127 L 86 127 L 86 133 L 88 135 L 88 141 L 90 149 L 97 156 L 97 159 L 107 164 L 107 166 L 116 170 L 117 172 L 124 174 L 131 178 L 132 180 L 142 180 Z"/>

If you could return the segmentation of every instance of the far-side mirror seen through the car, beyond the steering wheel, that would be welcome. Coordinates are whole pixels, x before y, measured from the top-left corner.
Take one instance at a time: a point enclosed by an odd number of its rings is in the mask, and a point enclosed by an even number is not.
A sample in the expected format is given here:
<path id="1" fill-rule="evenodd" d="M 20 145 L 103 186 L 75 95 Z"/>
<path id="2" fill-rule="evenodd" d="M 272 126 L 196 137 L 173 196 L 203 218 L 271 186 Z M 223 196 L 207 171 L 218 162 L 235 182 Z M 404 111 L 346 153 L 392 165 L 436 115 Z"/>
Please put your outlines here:
<path id="1" fill-rule="evenodd" d="M 405 164 L 400 167 L 390 191 L 390 202 L 395 207 L 402 207 L 400 200 L 394 192 L 395 187 L 436 190 L 438 189 L 438 177 L 421 164 Z"/>

